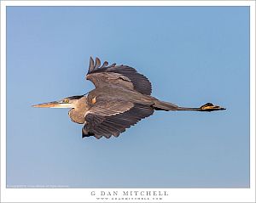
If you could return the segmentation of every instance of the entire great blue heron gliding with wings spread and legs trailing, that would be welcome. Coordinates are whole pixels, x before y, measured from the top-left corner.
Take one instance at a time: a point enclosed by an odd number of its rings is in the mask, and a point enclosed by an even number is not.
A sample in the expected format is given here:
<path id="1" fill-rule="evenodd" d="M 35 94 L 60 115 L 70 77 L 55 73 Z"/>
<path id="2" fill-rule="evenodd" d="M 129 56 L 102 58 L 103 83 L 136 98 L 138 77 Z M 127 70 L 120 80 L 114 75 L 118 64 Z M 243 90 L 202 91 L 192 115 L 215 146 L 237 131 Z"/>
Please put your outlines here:
<path id="1" fill-rule="evenodd" d="M 73 122 L 84 124 L 82 138 L 118 137 L 126 128 L 141 119 L 151 116 L 154 110 L 225 110 L 207 103 L 199 108 L 179 107 L 150 96 L 151 83 L 146 76 L 128 65 L 101 66 L 90 57 L 86 79 L 94 83 L 95 89 L 87 95 L 67 97 L 60 101 L 33 105 L 33 107 L 71 108 L 68 115 Z"/>

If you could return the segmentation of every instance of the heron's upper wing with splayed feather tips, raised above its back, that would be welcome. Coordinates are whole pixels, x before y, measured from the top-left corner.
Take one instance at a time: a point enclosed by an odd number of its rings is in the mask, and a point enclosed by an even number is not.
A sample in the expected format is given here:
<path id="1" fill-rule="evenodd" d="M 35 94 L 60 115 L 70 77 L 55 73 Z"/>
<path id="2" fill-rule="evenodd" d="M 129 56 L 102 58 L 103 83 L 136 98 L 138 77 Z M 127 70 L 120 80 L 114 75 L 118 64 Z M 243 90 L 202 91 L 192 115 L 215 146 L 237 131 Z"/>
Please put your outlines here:
<path id="1" fill-rule="evenodd" d="M 137 90 L 139 93 L 151 94 L 152 87 L 146 76 L 127 65 L 109 65 L 105 61 L 101 66 L 101 60 L 96 58 L 96 64 L 90 57 L 90 67 L 86 79 L 94 83 L 96 87 L 108 85 L 125 87 Z"/>

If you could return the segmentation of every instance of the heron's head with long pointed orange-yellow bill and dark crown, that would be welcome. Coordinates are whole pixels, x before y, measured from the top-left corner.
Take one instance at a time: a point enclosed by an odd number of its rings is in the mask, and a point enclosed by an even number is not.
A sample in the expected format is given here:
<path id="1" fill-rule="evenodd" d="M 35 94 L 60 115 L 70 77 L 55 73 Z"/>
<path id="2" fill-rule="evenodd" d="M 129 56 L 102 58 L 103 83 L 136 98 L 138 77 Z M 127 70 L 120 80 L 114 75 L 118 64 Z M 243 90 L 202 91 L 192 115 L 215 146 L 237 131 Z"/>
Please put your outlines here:
<path id="1" fill-rule="evenodd" d="M 75 108 L 77 101 L 84 97 L 84 95 L 72 96 L 61 99 L 59 101 L 47 102 L 43 104 L 32 105 L 32 107 L 39 108 Z"/>

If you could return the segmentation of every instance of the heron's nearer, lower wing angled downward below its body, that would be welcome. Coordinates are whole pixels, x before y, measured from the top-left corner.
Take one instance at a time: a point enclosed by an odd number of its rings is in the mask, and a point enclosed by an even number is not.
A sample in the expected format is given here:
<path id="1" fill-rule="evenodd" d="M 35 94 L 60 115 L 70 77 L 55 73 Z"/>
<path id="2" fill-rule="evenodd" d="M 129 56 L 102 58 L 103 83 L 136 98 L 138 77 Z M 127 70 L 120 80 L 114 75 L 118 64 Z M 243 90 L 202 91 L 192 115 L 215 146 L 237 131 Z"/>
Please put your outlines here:
<path id="1" fill-rule="evenodd" d="M 83 138 L 89 136 L 110 138 L 112 135 L 118 137 L 126 128 L 153 113 L 153 108 L 144 104 L 133 104 L 122 100 L 110 101 L 108 104 L 98 102 L 84 116 L 82 136 Z"/>

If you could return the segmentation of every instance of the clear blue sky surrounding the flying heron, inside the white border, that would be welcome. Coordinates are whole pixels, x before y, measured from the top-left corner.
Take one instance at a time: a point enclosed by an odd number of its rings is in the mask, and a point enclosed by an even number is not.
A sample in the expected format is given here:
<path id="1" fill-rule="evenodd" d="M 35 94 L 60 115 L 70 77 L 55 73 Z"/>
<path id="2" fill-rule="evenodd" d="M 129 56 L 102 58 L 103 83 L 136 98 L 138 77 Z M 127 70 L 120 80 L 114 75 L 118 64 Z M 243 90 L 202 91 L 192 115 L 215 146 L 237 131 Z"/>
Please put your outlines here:
<path id="1" fill-rule="evenodd" d="M 66 109 L 90 56 L 131 65 L 153 95 L 219 112 L 165 112 L 119 138 L 81 137 Z M 7 184 L 248 187 L 249 8 L 7 8 Z"/>

